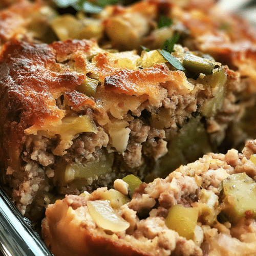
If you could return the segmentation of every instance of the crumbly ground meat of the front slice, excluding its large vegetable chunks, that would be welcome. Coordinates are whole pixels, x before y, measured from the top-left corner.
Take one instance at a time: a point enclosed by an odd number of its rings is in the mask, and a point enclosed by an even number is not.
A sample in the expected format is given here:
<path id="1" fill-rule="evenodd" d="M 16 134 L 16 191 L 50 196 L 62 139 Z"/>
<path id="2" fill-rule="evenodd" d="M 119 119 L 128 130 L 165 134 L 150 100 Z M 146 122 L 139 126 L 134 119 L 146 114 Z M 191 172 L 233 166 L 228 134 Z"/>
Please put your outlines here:
<path id="1" fill-rule="evenodd" d="M 118 209 L 130 223 L 122 232 L 97 226 L 88 211 L 87 202 L 104 199 L 106 188 L 86 197 L 66 196 L 48 206 L 42 222 L 43 237 L 56 256 L 101 255 L 102 250 L 104 255 L 254 255 L 255 220 L 246 216 L 233 223 L 230 219 L 221 221 L 219 215 L 227 204 L 221 199 L 224 179 L 246 173 L 255 182 L 256 166 L 249 160 L 256 153 L 255 143 L 248 141 L 242 154 L 236 150 L 226 155 L 210 153 L 165 179 L 142 183 L 132 200 Z M 203 208 L 205 190 L 214 195 L 209 211 Z M 194 237 L 189 240 L 166 226 L 168 210 L 177 204 L 201 207 Z"/>

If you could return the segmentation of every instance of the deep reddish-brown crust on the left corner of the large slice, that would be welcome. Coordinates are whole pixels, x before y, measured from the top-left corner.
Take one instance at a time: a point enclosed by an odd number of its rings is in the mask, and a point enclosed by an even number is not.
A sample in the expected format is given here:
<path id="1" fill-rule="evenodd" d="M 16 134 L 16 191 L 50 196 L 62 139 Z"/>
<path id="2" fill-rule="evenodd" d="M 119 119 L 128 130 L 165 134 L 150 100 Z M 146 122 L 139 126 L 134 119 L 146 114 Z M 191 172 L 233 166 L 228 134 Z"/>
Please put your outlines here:
<path id="1" fill-rule="evenodd" d="M 55 99 L 62 91 L 75 89 L 84 80 L 83 74 L 69 69 L 61 73 L 54 71 L 54 51 L 44 44 L 10 41 L 4 46 L 0 58 L 4 116 L 10 122 L 18 118 L 18 125 L 23 130 L 63 117 Z"/>

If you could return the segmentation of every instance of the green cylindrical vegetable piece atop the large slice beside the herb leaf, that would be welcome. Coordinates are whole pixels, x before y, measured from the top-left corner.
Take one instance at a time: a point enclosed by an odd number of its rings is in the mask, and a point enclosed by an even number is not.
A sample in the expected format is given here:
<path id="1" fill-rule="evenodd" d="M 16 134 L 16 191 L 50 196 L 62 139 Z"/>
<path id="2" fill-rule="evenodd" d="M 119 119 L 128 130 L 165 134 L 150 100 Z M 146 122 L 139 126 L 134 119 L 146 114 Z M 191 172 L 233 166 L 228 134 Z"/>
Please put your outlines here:
<path id="1" fill-rule="evenodd" d="M 209 75 L 212 73 L 215 65 L 216 62 L 198 57 L 194 54 L 186 53 L 183 57 L 184 68 L 197 74 L 203 73 Z"/>

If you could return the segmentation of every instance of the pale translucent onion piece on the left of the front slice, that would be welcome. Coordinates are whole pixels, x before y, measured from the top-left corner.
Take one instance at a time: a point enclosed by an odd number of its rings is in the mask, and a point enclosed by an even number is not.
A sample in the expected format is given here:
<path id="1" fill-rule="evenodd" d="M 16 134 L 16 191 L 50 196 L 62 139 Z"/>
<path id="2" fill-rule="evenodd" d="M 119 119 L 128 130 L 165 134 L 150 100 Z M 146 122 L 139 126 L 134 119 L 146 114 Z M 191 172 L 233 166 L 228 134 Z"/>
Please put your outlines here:
<path id="1" fill-rule="evenodd" d="M 87 207 L 99 227 L 113 232 L 121 232 L 130 227 L 129 222 L 115 213 L 108 200 L 87 201 Z"/>

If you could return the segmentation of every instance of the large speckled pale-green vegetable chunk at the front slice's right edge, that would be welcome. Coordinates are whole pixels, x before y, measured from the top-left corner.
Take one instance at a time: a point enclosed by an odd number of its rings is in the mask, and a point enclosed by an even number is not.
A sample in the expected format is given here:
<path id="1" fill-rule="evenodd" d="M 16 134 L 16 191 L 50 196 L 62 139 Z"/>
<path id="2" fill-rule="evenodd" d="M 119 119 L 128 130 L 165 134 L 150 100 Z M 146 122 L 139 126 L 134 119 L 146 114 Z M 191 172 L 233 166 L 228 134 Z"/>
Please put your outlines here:
<path id="1" fill-rule="evenodd" d="M 245 173 L 232 174 L 222 181 L 225 214 L 231 222 L 240 219 L 256 219 L 256 183 Z"/>

